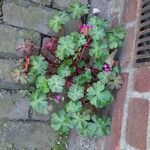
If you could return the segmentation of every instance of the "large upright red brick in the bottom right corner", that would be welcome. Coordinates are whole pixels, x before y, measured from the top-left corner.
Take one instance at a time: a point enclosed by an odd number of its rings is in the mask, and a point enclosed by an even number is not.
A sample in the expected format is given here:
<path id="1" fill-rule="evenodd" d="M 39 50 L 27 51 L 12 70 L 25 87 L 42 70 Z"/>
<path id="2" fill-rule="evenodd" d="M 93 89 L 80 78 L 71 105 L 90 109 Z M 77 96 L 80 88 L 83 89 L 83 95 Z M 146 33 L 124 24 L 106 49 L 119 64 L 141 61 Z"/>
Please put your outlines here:
<path id="1" fill-rule="evenodd" d="M 147 100 L 133 99 L 129 103 L 127 143 L 139 150 L 146 150 L 148 111 Z"/>

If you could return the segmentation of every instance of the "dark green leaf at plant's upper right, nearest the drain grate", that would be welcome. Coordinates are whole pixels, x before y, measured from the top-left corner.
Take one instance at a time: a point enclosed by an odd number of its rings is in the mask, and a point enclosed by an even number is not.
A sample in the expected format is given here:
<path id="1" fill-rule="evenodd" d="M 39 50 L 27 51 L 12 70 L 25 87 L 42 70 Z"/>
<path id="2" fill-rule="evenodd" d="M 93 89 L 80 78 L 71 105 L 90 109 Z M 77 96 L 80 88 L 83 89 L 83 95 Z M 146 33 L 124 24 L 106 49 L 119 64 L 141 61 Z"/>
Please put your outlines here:
<path id="1" fill-rule="evenodd" d="M 123 27 L 119 26 L 108 31 L 108 43 L 109 48 L 114 49 L 121 47 L 123 44 L 123 39 L 125 38 L 125 30 Z"/>

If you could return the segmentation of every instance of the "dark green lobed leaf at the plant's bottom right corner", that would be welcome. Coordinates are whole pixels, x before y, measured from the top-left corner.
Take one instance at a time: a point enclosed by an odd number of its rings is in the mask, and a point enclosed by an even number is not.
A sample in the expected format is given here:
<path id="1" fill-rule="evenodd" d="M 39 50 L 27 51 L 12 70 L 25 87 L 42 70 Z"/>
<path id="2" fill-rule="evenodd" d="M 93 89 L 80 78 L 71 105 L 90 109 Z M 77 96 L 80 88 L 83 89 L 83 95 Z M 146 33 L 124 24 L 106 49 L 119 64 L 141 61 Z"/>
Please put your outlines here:
<path id="1" fill-rule="evenodd" d="M 103 137 L 110 134 L 110 118 L 92 116 L 92 122 L 88 124 L 90 136 Z"/>

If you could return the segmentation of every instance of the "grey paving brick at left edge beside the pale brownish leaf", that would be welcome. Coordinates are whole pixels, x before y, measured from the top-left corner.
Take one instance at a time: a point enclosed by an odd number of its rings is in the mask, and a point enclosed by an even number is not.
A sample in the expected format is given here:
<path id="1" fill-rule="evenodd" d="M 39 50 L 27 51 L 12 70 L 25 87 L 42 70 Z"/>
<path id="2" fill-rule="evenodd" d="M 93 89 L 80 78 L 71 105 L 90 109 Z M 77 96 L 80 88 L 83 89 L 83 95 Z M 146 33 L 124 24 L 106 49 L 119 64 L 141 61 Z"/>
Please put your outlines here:
<path id="1" fill-rule="evenodd" d="M 14 82 L 11 72 L 18 66 L 18 61 L 0 59 L 0 64 L 0 80 L 4 82 Z"/>

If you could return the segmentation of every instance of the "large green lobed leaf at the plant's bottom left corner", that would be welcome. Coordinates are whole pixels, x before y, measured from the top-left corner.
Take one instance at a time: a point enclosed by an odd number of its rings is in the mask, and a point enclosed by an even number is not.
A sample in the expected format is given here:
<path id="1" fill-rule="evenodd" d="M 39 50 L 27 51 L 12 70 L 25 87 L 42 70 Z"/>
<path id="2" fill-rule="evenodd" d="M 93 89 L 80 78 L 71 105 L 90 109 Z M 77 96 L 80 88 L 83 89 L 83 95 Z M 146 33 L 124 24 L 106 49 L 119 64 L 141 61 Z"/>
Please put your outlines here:
<path id="1" fill-rule="evenodd" d="M 71 120 L 64 110 L 59 110 L 57 114 L 52 114 L 51 127 L 63 133 L 69 132 L 70 128 L 72 128 Z"/>

